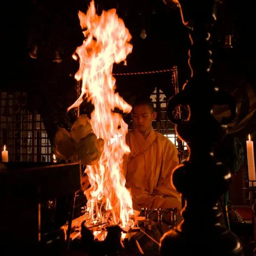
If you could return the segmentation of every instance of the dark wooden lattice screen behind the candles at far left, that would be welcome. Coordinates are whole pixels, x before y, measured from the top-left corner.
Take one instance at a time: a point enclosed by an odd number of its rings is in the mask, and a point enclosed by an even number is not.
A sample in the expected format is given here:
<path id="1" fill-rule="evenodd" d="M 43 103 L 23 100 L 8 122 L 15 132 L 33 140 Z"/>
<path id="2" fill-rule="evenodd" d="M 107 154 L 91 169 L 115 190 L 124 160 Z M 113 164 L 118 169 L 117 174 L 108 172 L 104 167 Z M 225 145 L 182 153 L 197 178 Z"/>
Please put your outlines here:
<path id="1" fill-rule="evenodd" d="M 9 161 L 50 162 L 51 144 L 36 111 L 29 111 L 24 92 L 0 93 L 0 145 Z M 2 149 L 3 150 L 3 149 Z"/>

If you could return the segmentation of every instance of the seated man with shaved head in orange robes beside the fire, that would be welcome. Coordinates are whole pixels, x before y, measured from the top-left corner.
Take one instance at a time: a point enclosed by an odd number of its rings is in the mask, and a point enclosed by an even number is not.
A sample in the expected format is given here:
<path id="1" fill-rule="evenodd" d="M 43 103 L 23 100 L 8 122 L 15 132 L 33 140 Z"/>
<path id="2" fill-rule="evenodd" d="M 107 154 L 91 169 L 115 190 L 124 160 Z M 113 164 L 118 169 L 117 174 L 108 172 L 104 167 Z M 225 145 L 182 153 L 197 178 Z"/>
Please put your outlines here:
<path id="1" fill-rule="evenodd" d="M 181 196 L 171 183 L 178 151 L 167 137 L 152 128 L 152 121 L 157 117 L 153 102 L 137 99 L 131 117 L 134 129 L 126 136 L 131 153 L 124 156 L 123 170 L 126 186 L 131 189 L 133 208 L 181 209 Z"/>

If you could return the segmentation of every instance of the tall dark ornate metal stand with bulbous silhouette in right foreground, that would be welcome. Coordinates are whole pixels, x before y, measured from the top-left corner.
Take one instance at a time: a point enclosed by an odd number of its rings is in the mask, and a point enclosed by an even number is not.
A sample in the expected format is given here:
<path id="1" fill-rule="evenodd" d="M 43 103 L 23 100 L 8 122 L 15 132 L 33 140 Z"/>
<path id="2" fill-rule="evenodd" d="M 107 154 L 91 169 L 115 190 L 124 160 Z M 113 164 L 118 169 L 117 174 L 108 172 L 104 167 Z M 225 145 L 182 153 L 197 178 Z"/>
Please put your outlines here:
<path id="1" fill-rule="evenodd" d="M 217 0 L 175 0 L 182 7 L 182 20 L 191 29 L 189 51 L 191 79 L 173 96 L 168 105 L 170 120 L 177 126 L 180 139 L 186 141 L 190 155 L 173 173 L 172 182 L 186 198 L 183 222 L 160 241 L 163 256 L 243 255 L 239 239 L 218 221 L 215 204 L 227 189 L 231 174 L 213 155 L 213 148 L 226 134 L 225 124 L 236 114 L 234 99 L 219 90 L 209 78 L 209 30 L 216 20 Z M 180 8 L 181 8 L 180 7 Z M 213 105 L 229 105 L 231 115 L 221 123 L 212 116 Z M 189 106 L 186 121 L 172 115 L 177 105 Z M 201 143 L 201 142 L 204 143 Z M 204 145 L 202 150 L 201 145 Z M 207 180 L 207 181 L 206 181 Z"/>

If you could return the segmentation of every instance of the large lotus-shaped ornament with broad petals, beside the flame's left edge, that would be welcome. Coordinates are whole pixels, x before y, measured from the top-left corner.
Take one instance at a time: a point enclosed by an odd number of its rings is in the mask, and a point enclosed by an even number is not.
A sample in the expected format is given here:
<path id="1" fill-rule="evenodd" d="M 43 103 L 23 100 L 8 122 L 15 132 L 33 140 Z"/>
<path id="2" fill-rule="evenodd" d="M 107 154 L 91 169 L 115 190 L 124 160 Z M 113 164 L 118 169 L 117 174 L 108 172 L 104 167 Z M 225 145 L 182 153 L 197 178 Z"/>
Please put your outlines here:
<path id="1" fill-rule="evenodd" d="M 54 141 L 56 157 L 64 160 L 72 158 L 73 161 L 80 161 L 84 165 L 97 163 L 104 148 L 104 140 L 97 139 L 86 115 L 76 119 L 70 133 L 59 128 Z"/>

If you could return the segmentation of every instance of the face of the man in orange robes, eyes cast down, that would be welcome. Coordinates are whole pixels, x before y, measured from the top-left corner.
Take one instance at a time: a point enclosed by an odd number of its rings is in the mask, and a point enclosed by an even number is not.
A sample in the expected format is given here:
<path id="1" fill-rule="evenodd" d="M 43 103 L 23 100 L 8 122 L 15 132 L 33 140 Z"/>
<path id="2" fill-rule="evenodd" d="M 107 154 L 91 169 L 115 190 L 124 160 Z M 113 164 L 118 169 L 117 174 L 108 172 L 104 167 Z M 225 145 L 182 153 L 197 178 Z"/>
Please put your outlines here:
<path id="1" fill-rule="evenodd" d="M 134 106 L 131 117 L 138 131 L 144 132 L 151 129 L 152 121 L 156 119 L 157 113 L 152 112 L 148 105 L 138 105 Z"/>

